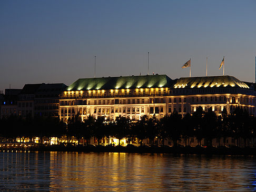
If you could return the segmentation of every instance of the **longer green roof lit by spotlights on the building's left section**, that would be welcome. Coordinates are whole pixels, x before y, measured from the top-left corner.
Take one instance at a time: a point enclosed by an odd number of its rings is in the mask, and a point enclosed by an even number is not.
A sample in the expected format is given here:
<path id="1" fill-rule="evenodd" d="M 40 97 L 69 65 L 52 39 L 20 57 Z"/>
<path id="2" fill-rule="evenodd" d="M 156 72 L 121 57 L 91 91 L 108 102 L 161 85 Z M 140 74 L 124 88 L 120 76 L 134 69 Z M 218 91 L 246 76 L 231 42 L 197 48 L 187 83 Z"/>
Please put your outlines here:
<path id="1" fill-rule="evenodd" d="M 107 90 L 170 87 L 173 82 L 174 81 L 166 75 L 81 78 L 68 86 L 66 90 Z"/>

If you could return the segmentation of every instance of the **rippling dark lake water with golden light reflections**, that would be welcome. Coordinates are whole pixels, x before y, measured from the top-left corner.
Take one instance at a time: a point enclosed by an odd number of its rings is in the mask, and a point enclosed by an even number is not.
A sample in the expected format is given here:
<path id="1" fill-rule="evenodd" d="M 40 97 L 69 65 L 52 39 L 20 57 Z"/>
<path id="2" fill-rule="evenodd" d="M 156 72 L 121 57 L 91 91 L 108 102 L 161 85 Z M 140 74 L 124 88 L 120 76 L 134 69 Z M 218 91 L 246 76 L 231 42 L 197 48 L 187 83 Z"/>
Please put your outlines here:
<path id="1" fill-rule="evenodd" d="M 256 158 L 0 152 L 1 191 L 253 191 Z"/>

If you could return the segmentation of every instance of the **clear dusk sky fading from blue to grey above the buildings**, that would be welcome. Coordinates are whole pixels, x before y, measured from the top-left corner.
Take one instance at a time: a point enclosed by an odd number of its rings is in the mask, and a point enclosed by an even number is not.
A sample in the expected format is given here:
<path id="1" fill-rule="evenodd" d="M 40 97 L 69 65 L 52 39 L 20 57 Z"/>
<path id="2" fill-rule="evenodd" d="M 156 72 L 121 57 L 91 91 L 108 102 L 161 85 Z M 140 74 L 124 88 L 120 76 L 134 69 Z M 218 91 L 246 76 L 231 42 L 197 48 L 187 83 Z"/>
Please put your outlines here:
<path id="1" fill-rule="evenodd" d="M 96 76 L 254 82 L 256 1 L 0 1 L 0 90 Z"/>

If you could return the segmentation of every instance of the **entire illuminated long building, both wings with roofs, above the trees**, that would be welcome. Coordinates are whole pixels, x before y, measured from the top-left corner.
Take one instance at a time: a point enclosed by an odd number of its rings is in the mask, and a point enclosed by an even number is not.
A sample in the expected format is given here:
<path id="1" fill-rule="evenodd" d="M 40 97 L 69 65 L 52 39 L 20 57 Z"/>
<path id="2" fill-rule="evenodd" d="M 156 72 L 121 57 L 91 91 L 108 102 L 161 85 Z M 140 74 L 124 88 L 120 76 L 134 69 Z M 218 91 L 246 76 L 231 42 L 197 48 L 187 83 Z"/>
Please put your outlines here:
<path id="1" fill-rule="evenodd" d="M 60 97 L 59 115 L 68 118 L 89 115 L 106 120 L 125 116 L 136 121 L 143 115 L 162 118 L 172 112 L 181 115 L 201 106 L 221 114 L 236 107 L 255 115 L 255 84 L 232 76 L 185 77 L 166 75 L 82 78 L 68 86 Z"/>

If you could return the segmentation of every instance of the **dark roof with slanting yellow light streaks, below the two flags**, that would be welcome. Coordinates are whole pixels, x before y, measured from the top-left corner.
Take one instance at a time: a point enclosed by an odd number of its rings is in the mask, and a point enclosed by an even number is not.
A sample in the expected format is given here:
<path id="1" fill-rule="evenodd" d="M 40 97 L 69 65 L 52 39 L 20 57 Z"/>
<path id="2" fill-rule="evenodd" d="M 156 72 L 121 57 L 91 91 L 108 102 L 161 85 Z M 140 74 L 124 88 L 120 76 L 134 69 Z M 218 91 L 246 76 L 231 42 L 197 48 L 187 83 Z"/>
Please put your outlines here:
<path id="1" fill-rule="evenodd" d="M 249 88 L 247 84 L 233 76 L 204 76 L 182 77 L 173 85 L 173 88 L 209 88 L 209 87 L 241 87 Z"/>

